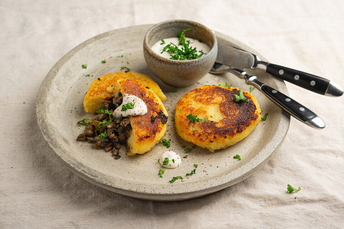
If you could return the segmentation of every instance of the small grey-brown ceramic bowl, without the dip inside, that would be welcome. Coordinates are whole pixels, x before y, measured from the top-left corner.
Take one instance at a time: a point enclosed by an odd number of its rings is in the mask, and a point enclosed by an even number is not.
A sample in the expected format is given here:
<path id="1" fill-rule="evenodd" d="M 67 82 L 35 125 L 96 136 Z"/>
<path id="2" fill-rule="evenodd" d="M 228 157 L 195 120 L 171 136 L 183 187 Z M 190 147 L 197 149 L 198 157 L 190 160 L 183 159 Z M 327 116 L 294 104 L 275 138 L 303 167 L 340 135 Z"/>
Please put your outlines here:
<path id="1" fill-rule="evenodd" d="M 155 42 L 176 37 L 187 28 L 191 30 L 185 32 L 185 37 L 202 39 L 209 46 L 209 53 L 193 60 L 172 60 L 151 49 Z M 217 56 L 217 40 L 214 33 L 200 23 L 187 20 L 165 21 L 151 27 L 144 36 L 143 55 L 148 67 L 164 83 L 173 87 L 187 87 L 195 84 L 213 67 Z"/>

